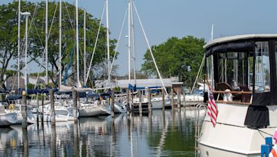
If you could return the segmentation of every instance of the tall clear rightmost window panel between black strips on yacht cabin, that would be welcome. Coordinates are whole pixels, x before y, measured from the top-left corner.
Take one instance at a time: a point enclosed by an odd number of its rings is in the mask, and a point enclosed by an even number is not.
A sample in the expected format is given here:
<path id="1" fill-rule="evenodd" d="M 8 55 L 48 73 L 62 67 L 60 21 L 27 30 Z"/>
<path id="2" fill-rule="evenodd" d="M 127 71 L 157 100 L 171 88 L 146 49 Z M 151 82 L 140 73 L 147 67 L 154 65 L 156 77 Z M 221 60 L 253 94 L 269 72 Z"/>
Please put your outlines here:
<path id="1" fill-rule="evenodd" d="M 269 44 L 267 41 L 256 42 L 255 92 L 270 92 Z"/>

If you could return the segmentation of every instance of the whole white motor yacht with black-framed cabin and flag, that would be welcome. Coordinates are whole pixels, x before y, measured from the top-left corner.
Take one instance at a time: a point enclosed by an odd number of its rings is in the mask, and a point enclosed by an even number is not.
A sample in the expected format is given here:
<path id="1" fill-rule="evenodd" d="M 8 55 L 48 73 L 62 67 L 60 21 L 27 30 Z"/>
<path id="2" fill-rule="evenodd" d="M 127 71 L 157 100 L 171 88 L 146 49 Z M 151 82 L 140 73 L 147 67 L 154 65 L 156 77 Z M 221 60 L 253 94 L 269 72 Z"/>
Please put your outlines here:
<path id="1" fill-rule="evenodd" d="M 229 36 L 204 48 L 215 105 L 197 135 L 199 156 L 260 156 L 277 127 L 277 34 Z"/>

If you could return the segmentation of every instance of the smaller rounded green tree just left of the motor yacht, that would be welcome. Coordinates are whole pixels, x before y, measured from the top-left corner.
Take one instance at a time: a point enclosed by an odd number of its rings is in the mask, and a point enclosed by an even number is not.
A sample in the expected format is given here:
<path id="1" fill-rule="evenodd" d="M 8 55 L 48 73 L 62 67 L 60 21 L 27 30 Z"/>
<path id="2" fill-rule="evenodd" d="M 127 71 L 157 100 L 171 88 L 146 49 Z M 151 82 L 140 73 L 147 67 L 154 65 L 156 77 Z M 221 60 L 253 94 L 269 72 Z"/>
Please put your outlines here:
<path id="1" fill-rule="evenodd" d="M 161 75 L 165 78 L 179 76 L 186 86 L 192 86 L 204 55 L 204 44 L 204 39 L 185 36 L 182 39 L 171 37 L 160 45 L 153 45 L 152 52 Z M 157 74 L 149 50 L 144 55 L 141 71 Z"/>

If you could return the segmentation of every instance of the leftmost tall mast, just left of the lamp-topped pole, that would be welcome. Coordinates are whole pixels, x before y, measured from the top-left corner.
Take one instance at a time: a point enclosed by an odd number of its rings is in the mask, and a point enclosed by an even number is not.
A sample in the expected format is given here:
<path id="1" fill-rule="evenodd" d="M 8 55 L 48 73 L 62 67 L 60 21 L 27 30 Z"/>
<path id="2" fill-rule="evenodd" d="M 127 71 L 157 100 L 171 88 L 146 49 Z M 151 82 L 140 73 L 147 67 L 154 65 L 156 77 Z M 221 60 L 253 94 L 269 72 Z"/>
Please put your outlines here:
<path id="1" fill-rule="evenodd" d="M 21 0 L 18 0 L 18 33 L 17 33 L 17 89 L 20 88 L 20 15 Z"/>

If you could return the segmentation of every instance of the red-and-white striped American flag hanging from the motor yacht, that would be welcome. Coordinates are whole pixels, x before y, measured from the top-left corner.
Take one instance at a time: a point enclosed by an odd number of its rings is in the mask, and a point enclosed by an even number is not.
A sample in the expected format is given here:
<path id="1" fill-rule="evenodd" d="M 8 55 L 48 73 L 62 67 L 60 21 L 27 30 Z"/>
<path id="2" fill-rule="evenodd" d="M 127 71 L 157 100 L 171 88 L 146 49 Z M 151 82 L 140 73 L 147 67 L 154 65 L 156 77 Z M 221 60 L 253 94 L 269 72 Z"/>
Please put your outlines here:
<path id="1" fill-rule="evenodd" d="M 208 116 L 211 117 L 211 123 L 213 123 L 213 127 L 215 127 L 215 123 L 217 120 L 217 105 L 215 104 L 215 98 L 213 97 L 213 93 L 211 89 L 208 87 Z"/>

